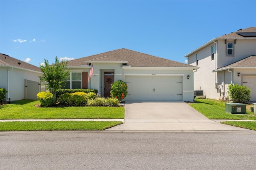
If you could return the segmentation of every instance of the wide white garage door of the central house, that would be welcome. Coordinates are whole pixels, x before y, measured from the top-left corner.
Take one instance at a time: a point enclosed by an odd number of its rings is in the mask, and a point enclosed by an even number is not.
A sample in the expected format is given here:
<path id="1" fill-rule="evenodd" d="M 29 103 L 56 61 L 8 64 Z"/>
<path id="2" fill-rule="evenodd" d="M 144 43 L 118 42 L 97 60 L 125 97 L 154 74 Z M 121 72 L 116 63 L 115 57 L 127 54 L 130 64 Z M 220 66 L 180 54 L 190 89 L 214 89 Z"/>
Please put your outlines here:
<path id="1" fill-rule="evenodd" d="M 182 101 L 182 76 L 126 76 L 126 101 Z"/>

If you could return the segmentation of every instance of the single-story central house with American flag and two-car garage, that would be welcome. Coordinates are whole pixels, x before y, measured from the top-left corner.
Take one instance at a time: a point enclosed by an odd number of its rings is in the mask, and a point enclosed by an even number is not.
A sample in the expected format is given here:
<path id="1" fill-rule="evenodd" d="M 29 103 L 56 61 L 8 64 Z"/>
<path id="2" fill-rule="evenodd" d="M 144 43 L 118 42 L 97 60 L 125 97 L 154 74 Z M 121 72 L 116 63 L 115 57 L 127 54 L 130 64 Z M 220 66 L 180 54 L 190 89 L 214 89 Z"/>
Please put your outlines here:
<path id="1" fill-rule="evenodd" d="M 122 80 L 128 84 L 126 101 L 193 101 L 193 70 L 198 69 L 124 48 L 68 61 L 68 68 L 64 88 L 98 89 L 109 97 L 111 84 Z"/>

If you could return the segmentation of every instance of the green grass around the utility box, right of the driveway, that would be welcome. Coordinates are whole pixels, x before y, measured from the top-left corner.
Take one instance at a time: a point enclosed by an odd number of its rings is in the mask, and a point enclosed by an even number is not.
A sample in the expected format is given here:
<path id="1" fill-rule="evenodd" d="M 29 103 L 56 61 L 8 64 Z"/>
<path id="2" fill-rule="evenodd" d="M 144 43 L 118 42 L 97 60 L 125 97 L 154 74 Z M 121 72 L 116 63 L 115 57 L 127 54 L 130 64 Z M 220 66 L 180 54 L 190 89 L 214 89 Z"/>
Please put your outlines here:
<path id="1" fill-rule="evenodd" d="M 233 119 L 233 120 L 256 120 L 256 115 L 250 112 L 250 107 L 253 105 L 248 105 L 246 108 L 246 114 L 244 115 L 234 115 L 225 112 L 225 103 L 216 99 L 197 99 L 196 103 L 190 103 L 189 105 L 202 113 L 208 119 Z"/>

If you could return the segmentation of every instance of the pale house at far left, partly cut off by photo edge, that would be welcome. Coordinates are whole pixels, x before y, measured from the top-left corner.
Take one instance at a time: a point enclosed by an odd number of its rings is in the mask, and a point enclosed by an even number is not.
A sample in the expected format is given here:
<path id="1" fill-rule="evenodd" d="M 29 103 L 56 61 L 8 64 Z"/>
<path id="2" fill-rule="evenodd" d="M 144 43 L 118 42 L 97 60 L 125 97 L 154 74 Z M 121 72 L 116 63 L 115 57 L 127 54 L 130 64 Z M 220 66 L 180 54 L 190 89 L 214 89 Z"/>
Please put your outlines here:
<path id="1" fill-rule="evenodd" d="M 7 101 L 9 98 L 11 101 L 37 100 L 36 94 L 41 91 L 38 76 L 41 74 L 40 67 L 0 53 L 0 87 L 8 91 Z"/>

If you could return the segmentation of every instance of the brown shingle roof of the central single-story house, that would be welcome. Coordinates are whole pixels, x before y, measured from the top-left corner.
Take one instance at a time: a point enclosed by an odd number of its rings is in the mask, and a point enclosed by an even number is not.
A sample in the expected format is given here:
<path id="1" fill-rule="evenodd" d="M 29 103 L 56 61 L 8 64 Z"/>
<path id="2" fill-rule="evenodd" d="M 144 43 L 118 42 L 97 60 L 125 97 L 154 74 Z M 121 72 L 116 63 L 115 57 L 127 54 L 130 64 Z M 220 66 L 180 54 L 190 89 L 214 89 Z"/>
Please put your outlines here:
<path id="1" fill-rule="evenodd" d="M 125 48 L 70 60 L 68 66 L 86 65 L 85 61 L 128 61 L 127 64 L 132 67 L 194 67 Z"/>

